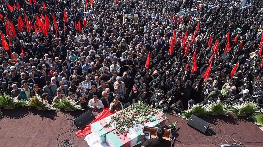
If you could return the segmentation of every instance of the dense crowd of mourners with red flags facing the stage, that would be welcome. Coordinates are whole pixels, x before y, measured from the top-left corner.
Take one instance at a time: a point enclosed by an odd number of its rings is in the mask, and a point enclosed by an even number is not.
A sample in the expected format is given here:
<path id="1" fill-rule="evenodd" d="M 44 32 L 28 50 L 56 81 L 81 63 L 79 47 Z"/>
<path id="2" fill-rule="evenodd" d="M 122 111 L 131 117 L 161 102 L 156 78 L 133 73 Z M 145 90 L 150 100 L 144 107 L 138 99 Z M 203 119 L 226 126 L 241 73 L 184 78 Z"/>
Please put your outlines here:
<path id="1" fill-rule="evenodd" d="M 177 112 L 213 101 L 263 107 L 259 0 L 0 3 L 2 94 L 110 111 L 138 101 Z M 180 15 L 191 7 L 198 13 Z"/>

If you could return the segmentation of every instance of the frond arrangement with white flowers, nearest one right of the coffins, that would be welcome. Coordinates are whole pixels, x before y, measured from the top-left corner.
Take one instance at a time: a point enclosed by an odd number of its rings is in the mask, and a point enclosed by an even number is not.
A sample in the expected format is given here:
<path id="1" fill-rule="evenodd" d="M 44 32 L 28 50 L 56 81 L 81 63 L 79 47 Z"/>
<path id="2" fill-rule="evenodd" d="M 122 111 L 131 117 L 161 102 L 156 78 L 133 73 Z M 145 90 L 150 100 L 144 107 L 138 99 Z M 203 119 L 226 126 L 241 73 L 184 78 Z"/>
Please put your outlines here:
<path id="1" fill-rule="evenodd" d="M 193 105 L 193 107 L 191 109 L 184 110 L 184 111 L 181 112 L 181 116 L 184 119 L 190 118 L 192 114 L 195 115 L 195 116 L 206 117 L 209 114 L 208 113 L 208 108 L 207 108 L 206 105 L 196 104 L 196 105 Z"/>

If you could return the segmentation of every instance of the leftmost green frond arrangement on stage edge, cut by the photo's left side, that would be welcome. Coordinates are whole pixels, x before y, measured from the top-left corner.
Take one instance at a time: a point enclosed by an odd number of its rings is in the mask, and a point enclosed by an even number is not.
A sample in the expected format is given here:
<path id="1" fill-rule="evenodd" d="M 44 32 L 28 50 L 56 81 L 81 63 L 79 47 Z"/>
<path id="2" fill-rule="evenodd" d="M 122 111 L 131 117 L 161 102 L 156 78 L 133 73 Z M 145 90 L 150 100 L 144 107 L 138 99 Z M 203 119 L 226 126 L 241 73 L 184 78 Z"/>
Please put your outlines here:
<path id="1" fill-rule="evenodd" d="M 12 98 L 10 95 L 4 93 L 0 95 L 0 107 L 4 109 L 13 109 L 26 105 L 23 100 L 18 100 L 18 96 Z"/>

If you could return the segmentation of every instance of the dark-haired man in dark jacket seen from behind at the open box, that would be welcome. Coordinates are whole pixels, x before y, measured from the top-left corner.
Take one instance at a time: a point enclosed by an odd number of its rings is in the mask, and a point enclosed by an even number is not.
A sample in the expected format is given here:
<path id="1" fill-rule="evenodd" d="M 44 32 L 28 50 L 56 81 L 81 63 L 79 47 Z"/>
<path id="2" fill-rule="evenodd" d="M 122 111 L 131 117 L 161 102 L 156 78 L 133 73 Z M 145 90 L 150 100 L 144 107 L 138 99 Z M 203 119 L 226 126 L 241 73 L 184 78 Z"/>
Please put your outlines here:
<path id="1" fill-rule="evenodd" d="M 158 127 L 155 132 L 156 138 L 147 139 L 145 138 L 145 134 L 141 133 L 141 145 L 145 147 L 170 147 L 171 141 L 163 139 L 164 128 Z"/>

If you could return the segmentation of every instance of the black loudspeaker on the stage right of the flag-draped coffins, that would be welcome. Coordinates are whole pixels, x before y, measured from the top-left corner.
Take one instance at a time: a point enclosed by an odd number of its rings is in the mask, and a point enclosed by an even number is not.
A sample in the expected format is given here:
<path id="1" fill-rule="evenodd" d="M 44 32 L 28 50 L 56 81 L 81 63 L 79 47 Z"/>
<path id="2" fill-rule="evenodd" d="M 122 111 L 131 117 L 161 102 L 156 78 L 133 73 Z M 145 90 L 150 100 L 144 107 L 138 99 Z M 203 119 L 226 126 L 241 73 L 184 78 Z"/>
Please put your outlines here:
<path id="1" fill-rule="evenodd" d="M 210 123 L 208 123 L 208 122 L 204 121 L 203 119 L 201 119 L 201 118 L 199 118 L 197 116 L 194 116 L 194 115 L 192 115 L 189 118 L 187 124 L 189 126 L 192 126 L 192 127 L 196 128 L 196 129 L 198 129 L 199 131 L 203 132 L 204 134 L 205 134 L 205 131 L 208 129 L 209 125 L 210 125 Z"/>

